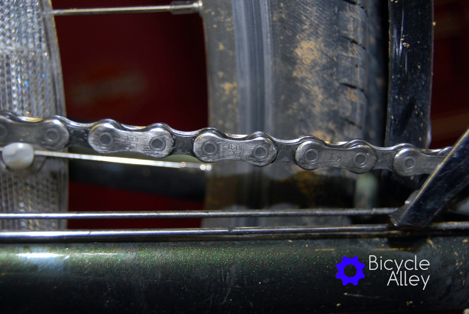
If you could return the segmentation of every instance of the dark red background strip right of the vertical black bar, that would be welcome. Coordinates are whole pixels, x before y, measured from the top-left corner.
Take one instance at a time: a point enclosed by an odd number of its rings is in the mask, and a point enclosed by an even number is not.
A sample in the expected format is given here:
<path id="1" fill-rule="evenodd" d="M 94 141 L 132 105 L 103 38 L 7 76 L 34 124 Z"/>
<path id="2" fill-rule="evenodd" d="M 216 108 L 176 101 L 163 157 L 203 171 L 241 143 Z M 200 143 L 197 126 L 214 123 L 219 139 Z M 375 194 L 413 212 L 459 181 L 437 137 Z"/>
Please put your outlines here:
<path id="1" fill-rule="evenodd" d="M 435 1 L 431 148 L 451 146 L 469 126 L 469 1 Z"/>

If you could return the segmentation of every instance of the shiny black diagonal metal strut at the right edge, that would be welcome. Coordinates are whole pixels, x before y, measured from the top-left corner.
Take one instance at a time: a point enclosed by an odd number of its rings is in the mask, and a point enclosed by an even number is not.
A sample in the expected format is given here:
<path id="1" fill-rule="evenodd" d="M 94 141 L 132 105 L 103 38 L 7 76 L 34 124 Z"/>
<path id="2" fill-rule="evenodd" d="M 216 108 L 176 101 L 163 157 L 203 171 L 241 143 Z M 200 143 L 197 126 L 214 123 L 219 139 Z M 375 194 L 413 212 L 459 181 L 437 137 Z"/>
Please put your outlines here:
<path id="1" fill-rule="evenodd" d="M 469 184 L 469 129 L 459 138 L 436 171 L 391 214 L 396 226 L 423 228 Z"/>

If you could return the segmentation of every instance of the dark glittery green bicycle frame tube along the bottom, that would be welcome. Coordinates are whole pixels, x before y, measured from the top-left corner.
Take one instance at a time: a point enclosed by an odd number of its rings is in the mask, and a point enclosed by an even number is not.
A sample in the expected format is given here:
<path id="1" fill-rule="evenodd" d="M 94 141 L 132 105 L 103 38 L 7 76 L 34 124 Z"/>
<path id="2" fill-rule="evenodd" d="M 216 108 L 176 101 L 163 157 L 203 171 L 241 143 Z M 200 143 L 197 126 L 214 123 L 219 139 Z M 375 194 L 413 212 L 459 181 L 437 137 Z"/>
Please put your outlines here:
<path id="1" fill-rule="evenodd" d="M 38 304 L 53 313 L 304 313 L 335 311 L 338 303 L 359 311 L 365 301 L 374 311 L 406 309 L 409 300 L 420 310 L 454 309 L 469 307 L 465 272 L 448 266 L 458 260 L 458 269 L 467 269 L 465 238 L 432 237 L 437 249 L 425 238 L 397 247 L 387 238 L 3 244 L 0 299 L 5 313 Z M 438 250 L 448 241 L 459 257 Z M 386 272 L 367 272 L 370 254 L 430 260 L 428 290 L 386 286 Z M 344 255 L 366 265 L 357 286 L 335 278 Z M 435 297 L 431 289 L 446 286 L 447 276 L 453 292 Z"/>

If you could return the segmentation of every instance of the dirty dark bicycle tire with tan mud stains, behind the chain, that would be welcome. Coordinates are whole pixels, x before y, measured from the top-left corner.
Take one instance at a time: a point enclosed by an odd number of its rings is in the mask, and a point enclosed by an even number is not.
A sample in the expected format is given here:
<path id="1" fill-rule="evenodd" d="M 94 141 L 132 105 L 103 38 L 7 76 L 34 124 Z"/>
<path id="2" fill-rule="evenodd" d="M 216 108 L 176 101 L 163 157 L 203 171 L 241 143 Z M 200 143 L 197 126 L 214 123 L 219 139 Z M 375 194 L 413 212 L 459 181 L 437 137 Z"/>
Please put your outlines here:
<path id="1" fill-rule="evenodd" d="M 382 144 L 383 10 L 380 1 L 204 1 L 210 126 Z M 259 169 L 233 161 L 212 172 L 208 209 L 350 207 L 357 177 L 343 169 L 308 172 L 285 163 Z"/>

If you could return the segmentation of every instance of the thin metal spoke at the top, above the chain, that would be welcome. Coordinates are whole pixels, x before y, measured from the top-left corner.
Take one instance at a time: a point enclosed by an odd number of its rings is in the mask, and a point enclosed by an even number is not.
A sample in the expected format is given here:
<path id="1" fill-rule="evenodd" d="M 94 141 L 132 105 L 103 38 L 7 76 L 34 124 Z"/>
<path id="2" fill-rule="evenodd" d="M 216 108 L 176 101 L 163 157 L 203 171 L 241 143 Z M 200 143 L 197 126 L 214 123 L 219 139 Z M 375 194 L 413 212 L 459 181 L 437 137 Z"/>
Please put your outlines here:
<path id="1" fill-rule="evenodd" d="M 138 7 L 115 7 L 115 8 L 71 8 L 52 10 L 54 16 L 63 15 L 97 15 L 97 14 L 119 14 L 119 13 L 155 13 L 171 12 L 173 14 L 198 13 L 202 7 L 200 1 L 174 1 L 164 6 L 138 6 Z"/>

